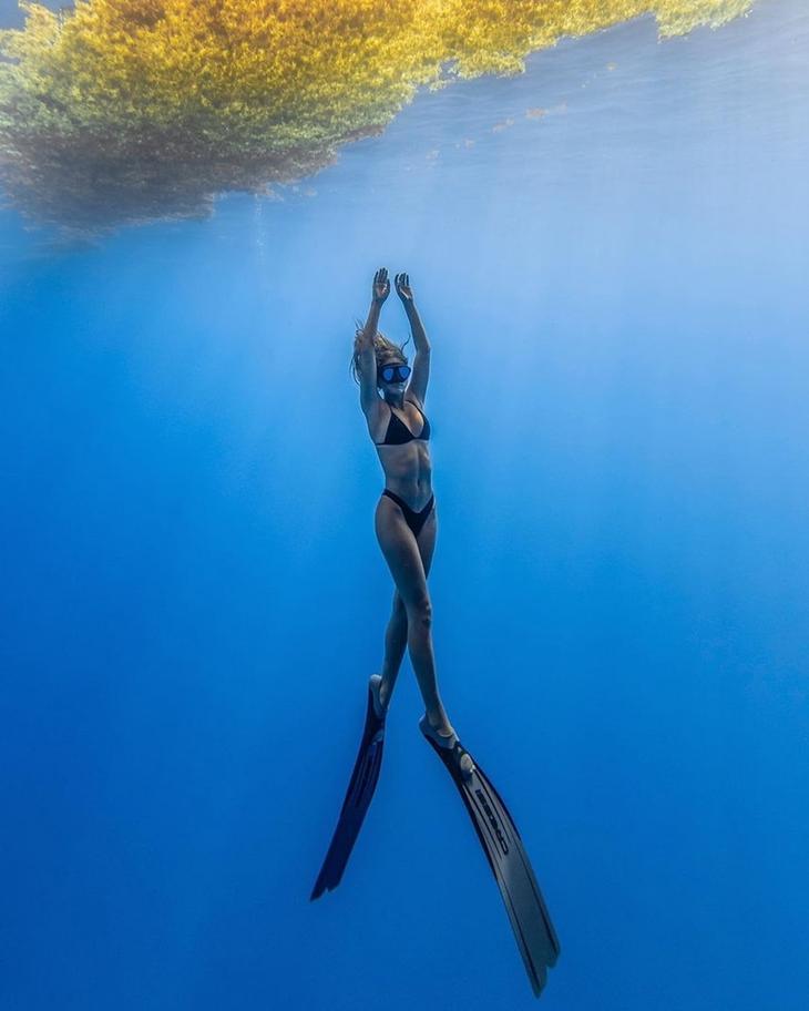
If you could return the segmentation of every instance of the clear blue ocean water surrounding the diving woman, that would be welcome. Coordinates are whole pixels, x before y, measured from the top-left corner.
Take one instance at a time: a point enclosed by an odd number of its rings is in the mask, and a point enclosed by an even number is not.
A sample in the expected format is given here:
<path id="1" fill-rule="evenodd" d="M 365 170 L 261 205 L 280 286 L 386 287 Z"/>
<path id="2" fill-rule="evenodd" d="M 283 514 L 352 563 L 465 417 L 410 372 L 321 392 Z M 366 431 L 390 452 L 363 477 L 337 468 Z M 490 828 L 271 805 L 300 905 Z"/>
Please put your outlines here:
<path id="1" fill-rule="evenodd" d="M 283 200 L 88 246 L 3 210 L 3 1011 L 533 1005 L 407 658 L 308 902 L 392 594 L 348 375 L 380 265 L 432 343 L 439 681 L 560 935 L 543 1004 L 805 1007 L 808 52 L 800 0 L 641 19 Z"/>

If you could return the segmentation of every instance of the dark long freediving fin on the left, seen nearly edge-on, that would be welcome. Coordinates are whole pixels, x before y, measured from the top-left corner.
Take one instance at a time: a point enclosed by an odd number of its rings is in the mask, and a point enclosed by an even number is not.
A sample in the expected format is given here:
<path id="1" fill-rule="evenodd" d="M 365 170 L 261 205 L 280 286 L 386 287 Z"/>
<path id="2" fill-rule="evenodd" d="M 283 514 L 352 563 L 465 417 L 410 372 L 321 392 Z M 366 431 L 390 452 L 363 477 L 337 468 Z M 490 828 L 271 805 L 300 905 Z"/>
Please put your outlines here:
<path id="1" fill-rule="evenodd" d="M 331 891 L 340 884 L 348 858 L 351 856 L 354 844 L 357 841 L 360 828 L 362 828 L 366 811 L 370 807 L 373 792 L 377 788 L 379 770 L 382 765 L 385 718 L 387 715 L 379 703 L 379 675 L 372 674 L 368 685 L 368 709 L 359 752 L 348 783 L 346 798 L 340 808 L 340 817 L 337 819 L 337 827 L 309 897 L 310 901 L 319 899 L 324 891 Z"/>

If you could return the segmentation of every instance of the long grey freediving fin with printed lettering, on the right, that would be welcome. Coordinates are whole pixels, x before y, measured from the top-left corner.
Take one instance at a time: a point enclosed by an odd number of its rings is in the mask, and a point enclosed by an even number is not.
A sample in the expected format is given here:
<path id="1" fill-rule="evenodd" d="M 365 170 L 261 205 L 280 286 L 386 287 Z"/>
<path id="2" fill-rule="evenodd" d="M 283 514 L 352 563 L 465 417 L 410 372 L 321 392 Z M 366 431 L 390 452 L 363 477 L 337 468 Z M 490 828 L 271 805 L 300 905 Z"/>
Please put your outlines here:
<path id="1" fill-rule="evenodd" d="M 489 777 L 458 737 L 444 743 L 426 717 L 419 727 L 447 766 L 469 811 L 503 897 L 534 995 L 539 997 L 560 947 L 516 825 Z"/>

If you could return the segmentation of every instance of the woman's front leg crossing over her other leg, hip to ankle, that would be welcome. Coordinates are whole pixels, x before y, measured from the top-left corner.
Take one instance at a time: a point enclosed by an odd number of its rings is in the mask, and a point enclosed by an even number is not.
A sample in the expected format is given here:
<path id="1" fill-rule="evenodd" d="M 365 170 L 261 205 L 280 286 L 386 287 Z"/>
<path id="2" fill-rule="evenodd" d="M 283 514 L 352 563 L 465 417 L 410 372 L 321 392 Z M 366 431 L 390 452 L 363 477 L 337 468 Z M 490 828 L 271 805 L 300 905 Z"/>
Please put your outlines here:
<path id="1" fill-rule="evenodd" d="M 436 683 L 432 604 L 427 589 L 427 568 L 432 560 L 437 530 L 434 510 L 419 532 L 420 544 L 404 522 L 400 507 L 387 496 L 381 496 L 377 504 L 376 530 L 379 547 L 404 605 L 408 622 L 407 644 L 424 699 L 428 721 L 434 727 L 448 729 L 449 721 Z M 427 566 L 422 561 L 422 550 Z"/>

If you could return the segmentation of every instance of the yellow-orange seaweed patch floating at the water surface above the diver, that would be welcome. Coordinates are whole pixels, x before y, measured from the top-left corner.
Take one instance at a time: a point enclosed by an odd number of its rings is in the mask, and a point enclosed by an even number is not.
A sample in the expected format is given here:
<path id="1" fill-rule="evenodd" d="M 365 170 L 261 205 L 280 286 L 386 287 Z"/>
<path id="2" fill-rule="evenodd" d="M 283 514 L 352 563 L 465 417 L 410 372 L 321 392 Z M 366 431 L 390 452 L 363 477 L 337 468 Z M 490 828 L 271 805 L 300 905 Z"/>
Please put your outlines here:
<path id="1" fill-rule="evenodd" d="M 208 212 L 385 130 L 420 85 L 519 73 L 532 51 L 641 14 L 662 35 L 752 0 L 21 2 L 0 32 L 0 180 L 76 229 Z"/>

